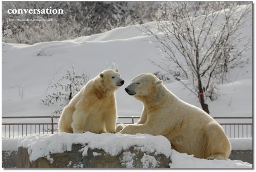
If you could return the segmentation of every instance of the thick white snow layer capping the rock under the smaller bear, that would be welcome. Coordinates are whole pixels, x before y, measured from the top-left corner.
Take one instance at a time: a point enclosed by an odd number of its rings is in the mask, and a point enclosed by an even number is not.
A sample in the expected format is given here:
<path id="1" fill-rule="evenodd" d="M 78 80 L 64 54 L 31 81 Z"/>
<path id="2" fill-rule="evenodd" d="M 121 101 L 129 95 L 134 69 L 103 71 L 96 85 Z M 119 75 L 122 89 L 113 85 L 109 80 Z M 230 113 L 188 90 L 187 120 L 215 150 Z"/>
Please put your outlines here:
<path id="1" fill-rule="evenodd" d="M 72 144 L 84 145 L 85 143 L 88 143 L 85 146 L 86 149 L 81 150 L 85 156 L 89 148 L 103 149 L 109 155 L 116 156 L 122 150 L 135 145 L 135 149 L 140 149 L 142 152 L 155 152 L 156 154 L 164 154 L 166 157 L 171 155 L 171 144 L 166 137 L 160 135 L 154 136 L 154 139 L 152 139 L 152 135 L 149 134 L 95 134 L 85 132 L 84 134 L 32 135 L 19 139 L 17 146 L 28 148 L 30 161 L 34 161 L 40 157 L 49 156 L 49 152 L 63 153 L 64 151 L 71 151 Z"/>

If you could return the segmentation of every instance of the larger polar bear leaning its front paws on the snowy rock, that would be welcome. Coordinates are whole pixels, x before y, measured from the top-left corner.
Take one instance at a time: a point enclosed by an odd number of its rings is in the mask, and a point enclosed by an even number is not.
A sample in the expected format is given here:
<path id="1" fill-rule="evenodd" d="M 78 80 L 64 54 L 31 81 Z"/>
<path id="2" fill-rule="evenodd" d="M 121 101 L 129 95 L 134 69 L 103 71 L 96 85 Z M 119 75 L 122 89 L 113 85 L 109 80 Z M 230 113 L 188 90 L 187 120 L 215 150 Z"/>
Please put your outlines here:
<path id="1" fill-rule="evenodd" d="M 122 134 L 163 135 L 172 149 L 196 158 L 227 160 L 231 145 L 223 128 L 203 110 L 183 102 L 153 74 L 132 79 L 125 91 L 143 104 L 136 124 L 119 124 Z"/>

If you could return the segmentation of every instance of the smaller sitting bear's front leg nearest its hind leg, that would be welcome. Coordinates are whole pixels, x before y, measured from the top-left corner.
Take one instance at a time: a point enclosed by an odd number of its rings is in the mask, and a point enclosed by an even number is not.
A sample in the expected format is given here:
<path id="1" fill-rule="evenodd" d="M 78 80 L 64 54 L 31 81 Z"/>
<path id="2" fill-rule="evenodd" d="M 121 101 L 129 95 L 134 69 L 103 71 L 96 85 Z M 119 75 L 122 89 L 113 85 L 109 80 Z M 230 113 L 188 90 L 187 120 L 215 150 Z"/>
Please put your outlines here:
<path id="1" fill-rule="evenodd" d="M 73 133 L 84 133 L 86 132 L 83 128 L 85 126 L 85 122 L 88 118 L 88 113 L 85 110 L 76 109 L 73 113 L 73 122 L 71 123 L 71 127 L 73 128 Z"/>

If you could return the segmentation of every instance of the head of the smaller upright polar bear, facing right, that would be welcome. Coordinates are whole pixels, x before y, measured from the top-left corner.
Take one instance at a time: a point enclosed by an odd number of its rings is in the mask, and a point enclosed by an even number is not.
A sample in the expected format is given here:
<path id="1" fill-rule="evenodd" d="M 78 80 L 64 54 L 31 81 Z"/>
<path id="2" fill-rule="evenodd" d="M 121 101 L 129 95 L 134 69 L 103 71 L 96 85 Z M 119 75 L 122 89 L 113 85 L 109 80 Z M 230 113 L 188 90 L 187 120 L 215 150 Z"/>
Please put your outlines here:
<path id="1" fill-rule="evenodd" d="M 99 76 L 100 76 L 100 79 L 102 79 L 105 82 L 105 84 L 107 84 L 107 86 L 109 87 L 119 88 L 124 83 L 124 80 L 120 77 L 120 74 L 118 73 L 118 69 L 104 70 L 102 73 L 100 73 Z"/>

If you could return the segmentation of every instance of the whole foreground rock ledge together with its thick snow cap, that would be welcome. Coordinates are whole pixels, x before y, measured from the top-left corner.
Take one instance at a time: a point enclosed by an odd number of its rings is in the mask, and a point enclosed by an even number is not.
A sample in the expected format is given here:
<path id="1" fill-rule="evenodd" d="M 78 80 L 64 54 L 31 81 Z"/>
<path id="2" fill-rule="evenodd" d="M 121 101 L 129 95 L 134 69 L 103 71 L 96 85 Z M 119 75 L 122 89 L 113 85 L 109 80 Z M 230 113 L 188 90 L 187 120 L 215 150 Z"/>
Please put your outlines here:
<path id="1" fill-rule="evenodd" d="M 22 137 L 17 167 L 169 167 L 171 144 L 148 134 L 56 133 Z"/>

